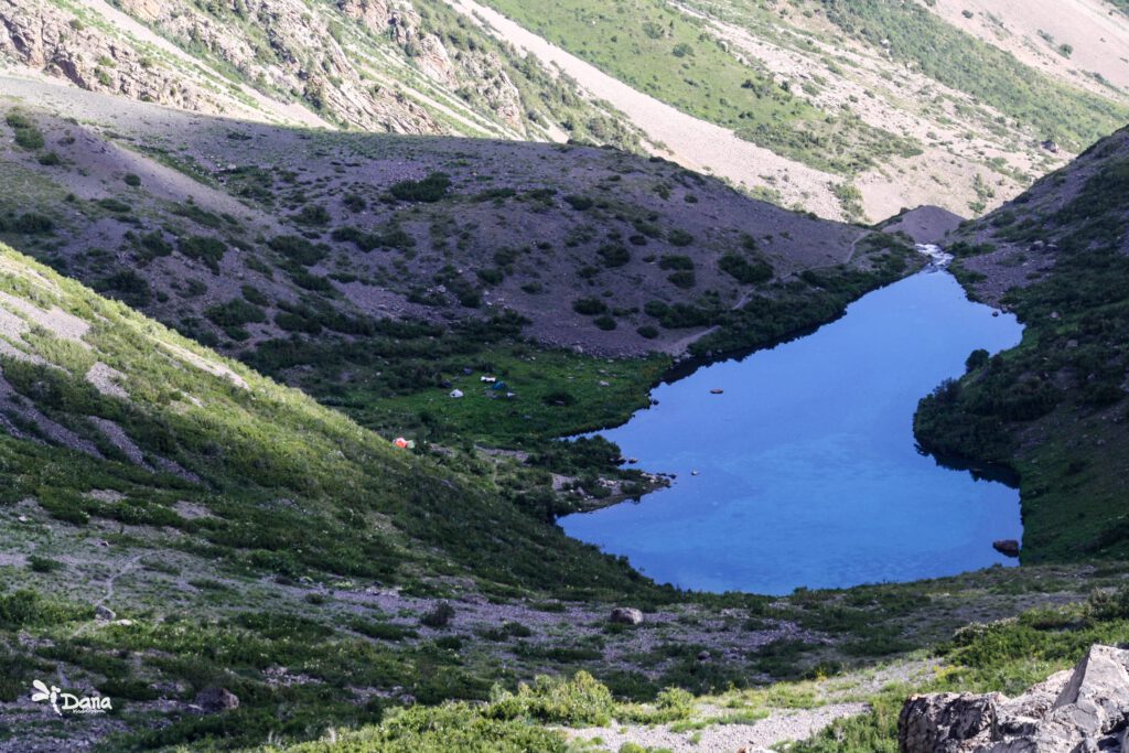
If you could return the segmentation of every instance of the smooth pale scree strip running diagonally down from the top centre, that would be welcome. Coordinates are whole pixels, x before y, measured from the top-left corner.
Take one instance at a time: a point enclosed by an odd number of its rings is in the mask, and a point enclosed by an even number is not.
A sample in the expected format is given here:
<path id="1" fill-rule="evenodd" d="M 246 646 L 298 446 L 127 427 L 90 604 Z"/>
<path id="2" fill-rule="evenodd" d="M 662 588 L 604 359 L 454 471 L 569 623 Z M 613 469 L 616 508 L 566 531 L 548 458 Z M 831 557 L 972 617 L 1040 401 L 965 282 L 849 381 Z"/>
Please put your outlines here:
<path id="1" fill-rule="evenodd" d="M 738 139 L 732 131 L 642 94 L 474 0 L 447 2 L 499 40 L 557 65 L 594 97 L 613 104 L 680 165 L 749 187 L 767 186 L 764 178 L 771 176 L 784 204 L 800 203 L 821 217 L 842 218 L 839 201 L 830 190 L 830 184 L 840 178 Z"/>

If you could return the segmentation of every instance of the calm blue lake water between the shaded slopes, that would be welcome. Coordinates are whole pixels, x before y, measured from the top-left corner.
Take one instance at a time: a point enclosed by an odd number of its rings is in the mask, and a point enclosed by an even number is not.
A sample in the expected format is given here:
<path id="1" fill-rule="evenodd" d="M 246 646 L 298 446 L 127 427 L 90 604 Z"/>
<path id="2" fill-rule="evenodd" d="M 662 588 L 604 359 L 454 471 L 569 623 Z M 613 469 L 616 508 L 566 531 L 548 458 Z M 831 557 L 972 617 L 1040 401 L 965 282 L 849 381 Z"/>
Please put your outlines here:
<path id="1" fill-rule="evenodd" d="M 1013 564 L 991 542 L 1021 537 L 1018 491 L 921 455 L 912 422 L 971 351 L 1021 335 L 946 272 L 872 292 L 811 335 L 657 387 L 658 405 L 602 434 L 673 485 L 560 525 L 659 583 L 712 592 Z"/>

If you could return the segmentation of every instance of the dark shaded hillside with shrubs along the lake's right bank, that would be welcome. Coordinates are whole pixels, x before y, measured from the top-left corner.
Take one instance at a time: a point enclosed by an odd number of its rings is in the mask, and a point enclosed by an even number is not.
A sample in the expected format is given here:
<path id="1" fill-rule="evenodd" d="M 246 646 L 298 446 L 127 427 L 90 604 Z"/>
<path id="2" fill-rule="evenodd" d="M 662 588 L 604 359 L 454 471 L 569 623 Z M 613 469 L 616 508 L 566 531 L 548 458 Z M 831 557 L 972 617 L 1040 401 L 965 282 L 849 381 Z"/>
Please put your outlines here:
<path id="1" fill-rule="evenodd" d="M 1014 309 L 1023 343 L 926 400 L 930 449 L 1018 471 L 1024 561 L 1124 557 L 1129 131 L 959 234 L 959 275 Z"/>

